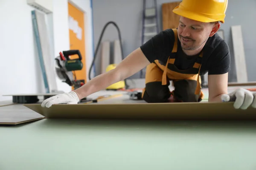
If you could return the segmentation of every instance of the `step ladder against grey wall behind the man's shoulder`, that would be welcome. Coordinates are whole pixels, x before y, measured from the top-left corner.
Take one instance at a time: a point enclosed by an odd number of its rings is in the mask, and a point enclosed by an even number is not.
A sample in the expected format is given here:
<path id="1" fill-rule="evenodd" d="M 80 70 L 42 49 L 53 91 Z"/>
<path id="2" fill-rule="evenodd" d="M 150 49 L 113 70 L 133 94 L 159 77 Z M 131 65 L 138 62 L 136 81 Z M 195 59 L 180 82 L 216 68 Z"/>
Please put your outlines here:
<path id="1" fill-rule="evenodd" d="M 154 6 L 151 8 L 146 7 L 146 1 L 147 0 L 143 0 L 143 20 L 142 20 L 143 23 L 142 23 L 142 38 L 141 38 L 142 45 L 159 32 L 158 18 L 157 18 L 157 0 L 153 0 Z M 140 71 L 140 78 L 143 78 L 143 72 L 145 72 L 145 68 L 143 68 Z"/>

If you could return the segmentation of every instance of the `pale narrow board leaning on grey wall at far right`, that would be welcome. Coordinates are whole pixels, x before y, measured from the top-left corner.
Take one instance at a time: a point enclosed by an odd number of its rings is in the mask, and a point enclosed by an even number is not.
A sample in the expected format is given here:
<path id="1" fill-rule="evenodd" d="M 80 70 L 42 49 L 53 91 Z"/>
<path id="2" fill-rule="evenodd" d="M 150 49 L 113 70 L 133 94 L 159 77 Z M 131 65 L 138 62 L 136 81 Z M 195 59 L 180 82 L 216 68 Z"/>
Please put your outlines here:
<path id="1" fill-rule="evenodd" d="M 237 82 L 248 82 L 241 26 L 231 26 Z"/>

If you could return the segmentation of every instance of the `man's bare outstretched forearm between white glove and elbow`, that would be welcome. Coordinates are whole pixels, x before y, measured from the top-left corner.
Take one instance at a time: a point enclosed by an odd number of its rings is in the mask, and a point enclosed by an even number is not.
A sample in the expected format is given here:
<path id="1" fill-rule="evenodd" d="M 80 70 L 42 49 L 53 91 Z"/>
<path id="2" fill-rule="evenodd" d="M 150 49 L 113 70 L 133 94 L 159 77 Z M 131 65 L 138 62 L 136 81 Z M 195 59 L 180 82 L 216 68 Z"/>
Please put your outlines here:
<path id="1" fill-rule="evenodd" d="M 120 81 L 120 74 L 118 74 L 114 69 L 108 71 L 107 73 L 100 74 L 99 76 L 94 77 L 89 82 L 84 84 L 82 87 L 74 90 L 79 96 L 79 99 L 82 99 L 90 94 L 93 94 L 97 91 L 107 88 L 109 85 L 112 85 Z"/>

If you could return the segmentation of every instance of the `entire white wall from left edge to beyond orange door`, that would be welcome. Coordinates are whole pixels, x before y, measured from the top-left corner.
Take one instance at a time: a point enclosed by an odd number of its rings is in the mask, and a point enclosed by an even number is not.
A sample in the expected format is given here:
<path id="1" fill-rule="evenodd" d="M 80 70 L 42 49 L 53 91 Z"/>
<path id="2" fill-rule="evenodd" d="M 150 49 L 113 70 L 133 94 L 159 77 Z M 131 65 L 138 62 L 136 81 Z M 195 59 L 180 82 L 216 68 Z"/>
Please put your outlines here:
<path id="1" fill-rule="evenodd" d="M 72 0 L 87 15 L 87 70 L 93 58 L 90 0 Z M 47 16 L 54 54 L 70 49 L 68 1 L 53 0 L 53 14 Z M 0 1 L 0 101 L 11 100 L 4 94 L 44 93 L 41 68 L 32 30 L 31 11 L 26 0 Z M 88 71 L 87 71 L 88 73 Z M 53 73 L 55 74 L 55 73 Z M 68 92 L 71 87 L 56 77 L 58 90 Z"/>

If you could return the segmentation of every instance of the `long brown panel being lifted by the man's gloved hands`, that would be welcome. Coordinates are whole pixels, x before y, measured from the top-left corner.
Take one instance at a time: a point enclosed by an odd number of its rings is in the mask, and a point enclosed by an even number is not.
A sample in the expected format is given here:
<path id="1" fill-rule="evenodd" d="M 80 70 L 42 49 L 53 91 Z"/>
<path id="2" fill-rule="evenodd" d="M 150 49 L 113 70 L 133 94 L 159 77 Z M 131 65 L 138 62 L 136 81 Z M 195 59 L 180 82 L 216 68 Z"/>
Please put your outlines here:
<path id="1" fill-rule="evenodd" d="M 256 109 L 235 109 L 233 102 L 137 104 L 23 104 L 49 119 L 256 120 Z"/>

